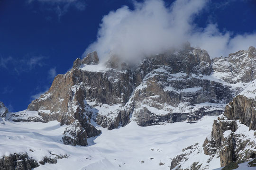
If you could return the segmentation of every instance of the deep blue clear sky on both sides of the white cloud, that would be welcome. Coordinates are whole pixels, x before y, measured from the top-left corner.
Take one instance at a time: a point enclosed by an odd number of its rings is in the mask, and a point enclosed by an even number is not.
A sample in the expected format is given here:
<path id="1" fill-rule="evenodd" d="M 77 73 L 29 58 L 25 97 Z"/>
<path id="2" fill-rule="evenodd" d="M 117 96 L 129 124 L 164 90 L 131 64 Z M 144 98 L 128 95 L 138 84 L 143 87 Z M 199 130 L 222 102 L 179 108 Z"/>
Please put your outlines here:
<path id="1" fill-rule="evenodd" d="M 27 109 L 56 74 L 72 68 L 96 40 L 104 15 L 123 5 L 133 9 L 132 0 L 80 0 L 82 8 L 42 1 L 0 0 L 0 101 L 9 111 Z M 173 1 L 165 0 L 166 5 Z M 228 2 L 212 0 L 194 23 L 202 28 L 217 23 L 234 35 L 255 33 L 256 1 Z"/>

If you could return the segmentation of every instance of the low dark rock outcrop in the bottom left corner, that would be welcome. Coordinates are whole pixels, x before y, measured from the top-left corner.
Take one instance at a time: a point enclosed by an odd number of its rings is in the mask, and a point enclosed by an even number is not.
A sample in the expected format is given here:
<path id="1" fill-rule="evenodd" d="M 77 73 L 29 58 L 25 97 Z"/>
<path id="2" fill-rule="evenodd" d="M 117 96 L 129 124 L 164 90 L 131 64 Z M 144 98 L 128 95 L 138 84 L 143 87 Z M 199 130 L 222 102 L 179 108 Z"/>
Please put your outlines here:
<path id="1" fill-rule="evenodd" d="M 32 170 L 39 164 L 33 158 L 29 158 L 27 153 L 14 153 L 0 157 L 1 170 Z"/>

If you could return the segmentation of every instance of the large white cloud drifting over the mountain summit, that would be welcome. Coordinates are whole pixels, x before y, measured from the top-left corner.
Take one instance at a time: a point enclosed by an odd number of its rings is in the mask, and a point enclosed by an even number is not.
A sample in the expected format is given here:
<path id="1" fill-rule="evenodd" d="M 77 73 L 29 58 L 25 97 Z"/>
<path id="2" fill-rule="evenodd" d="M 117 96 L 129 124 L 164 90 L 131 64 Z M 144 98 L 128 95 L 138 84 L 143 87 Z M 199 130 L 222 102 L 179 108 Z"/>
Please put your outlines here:
<path id="1" fill-rule="evenodd" d="M 207 50 L 211 58 L 256 46 L 256 34 L 232 36 L 229 31 L 221 33 L 217 24 L 208 24 L 205 28 L 196 26 L 194 17 L 200 15 L 208 3 L 212 2 L 176 0 L 166 6 L 163 0 L 135 1 L 134 10 L 124 6 L 102 18 L 97 40 L 84 54 L 97 51 L 101 60 L 116 55 L 133 62 L 179 47 L 186 41 Z"/>

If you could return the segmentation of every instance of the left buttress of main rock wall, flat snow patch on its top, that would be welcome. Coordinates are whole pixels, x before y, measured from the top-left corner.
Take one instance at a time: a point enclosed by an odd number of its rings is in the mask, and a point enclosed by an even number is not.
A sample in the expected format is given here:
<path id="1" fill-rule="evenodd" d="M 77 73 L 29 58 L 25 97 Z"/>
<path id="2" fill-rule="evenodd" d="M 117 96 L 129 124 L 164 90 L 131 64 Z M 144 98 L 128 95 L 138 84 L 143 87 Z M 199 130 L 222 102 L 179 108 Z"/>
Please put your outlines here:
<path id="1" fill-rule="evenodd" d="M 118 110 L 113 110 L 111 106 L 122 106 L 128 102 L 133 91 L 131 77 L 129 71 L 83 64 L 64 75 L 57 75 L 49 91 L 31 102 L 28 110 L 37 110 L 46 122 L 57 120 L 62 125 L 72 124 L 77 119 L 88 137 L 97 136 L 101 132 L 91 125 L 91 119 L 101 124 L 102 120 L 108 119 L 106 115 L 110 111 L 113 113 L 111 117 L 116 118 L 114 112 Z M 101 109 L 103 104 L 106 107 Z M 126 115 L 125 111 L 122 113 L 118 112 L 120 121 L 117 123 L 108 119 L 108 122 L 102 122 L 102 126 L 117 128 L 119 124 L 126 125 L 130 115 Z"/>

